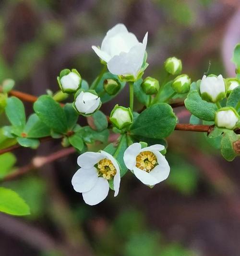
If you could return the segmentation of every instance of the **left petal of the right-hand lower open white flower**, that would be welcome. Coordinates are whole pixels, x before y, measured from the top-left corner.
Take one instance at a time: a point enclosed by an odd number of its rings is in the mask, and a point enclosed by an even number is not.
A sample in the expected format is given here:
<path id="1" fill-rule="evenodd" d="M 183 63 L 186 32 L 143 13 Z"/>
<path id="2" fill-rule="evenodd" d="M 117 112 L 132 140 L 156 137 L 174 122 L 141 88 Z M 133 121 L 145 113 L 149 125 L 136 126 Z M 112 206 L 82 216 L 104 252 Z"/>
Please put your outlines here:
<path id="1" fill-rule="evenodd" d="M 140 143 L 133 143 L 130 145 L 123 154 L 123 161 L 128 169 L 132 170 L 136 166 L 136 156 L 141 151 Z"/>

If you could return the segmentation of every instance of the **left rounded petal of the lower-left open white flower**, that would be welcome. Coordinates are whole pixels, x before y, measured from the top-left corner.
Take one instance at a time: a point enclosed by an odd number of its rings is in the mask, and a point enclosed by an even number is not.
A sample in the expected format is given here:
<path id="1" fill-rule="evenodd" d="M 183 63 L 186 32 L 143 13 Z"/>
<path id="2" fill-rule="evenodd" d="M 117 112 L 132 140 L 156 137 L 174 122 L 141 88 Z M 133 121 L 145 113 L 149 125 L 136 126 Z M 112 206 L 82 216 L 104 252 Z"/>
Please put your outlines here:
<path id="1" fill-rule="evenodd" d="M 95 186 L 97 178 L 98 174 L 95 167 L 80 168 L 72 177 L 72 186 L 76 192 L 87 192 Z"/>

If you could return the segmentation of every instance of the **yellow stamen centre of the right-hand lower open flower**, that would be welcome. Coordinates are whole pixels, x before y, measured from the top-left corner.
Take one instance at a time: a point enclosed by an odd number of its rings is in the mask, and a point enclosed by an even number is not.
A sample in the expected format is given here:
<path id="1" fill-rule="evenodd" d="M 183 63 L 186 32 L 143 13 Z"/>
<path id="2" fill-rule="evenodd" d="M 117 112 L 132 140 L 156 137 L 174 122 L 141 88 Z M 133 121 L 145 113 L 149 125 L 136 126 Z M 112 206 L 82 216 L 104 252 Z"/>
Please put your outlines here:
<path id="1" fill-rule="evenodd" d="M 137 155 L 136 166 L 146 172 L 150 172 L 157 164 L 156 155 L 151 151 L 144 151 Z"/>

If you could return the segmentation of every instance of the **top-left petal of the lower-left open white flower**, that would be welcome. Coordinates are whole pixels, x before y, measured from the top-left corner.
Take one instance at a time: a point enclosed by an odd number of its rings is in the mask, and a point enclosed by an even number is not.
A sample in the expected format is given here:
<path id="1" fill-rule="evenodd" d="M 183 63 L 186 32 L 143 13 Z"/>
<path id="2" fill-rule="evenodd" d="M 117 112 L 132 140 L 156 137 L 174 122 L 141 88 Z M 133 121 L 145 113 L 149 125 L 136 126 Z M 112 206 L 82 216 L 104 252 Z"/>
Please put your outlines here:
<path id="1" fill-rule="evenodd" d="M 101 153 L 86 152 L 79 155 L 77 158 L 77 164 L 84 169 L 90 169 L 103 158 L 104 156 Z"/>

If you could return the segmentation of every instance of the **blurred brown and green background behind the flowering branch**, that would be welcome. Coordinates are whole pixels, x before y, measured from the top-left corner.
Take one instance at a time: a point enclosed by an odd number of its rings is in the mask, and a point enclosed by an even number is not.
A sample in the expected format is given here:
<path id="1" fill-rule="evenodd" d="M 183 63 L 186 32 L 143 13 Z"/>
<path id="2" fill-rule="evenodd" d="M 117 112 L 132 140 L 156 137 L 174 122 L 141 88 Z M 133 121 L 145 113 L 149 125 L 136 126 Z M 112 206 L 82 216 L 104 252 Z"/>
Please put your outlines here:
<path id="1" fill-rule="evenodd" d="M 239 0 L 0 0 L 0 81 L 11 77 L 16 90 L 41 95 L 58 90 L 61 69 L 76 68 L 92 82 L 101 66 L 91 46 L 117 23 L 139 40 L 148 31 L 145 75 L 161 80 L 169 56 L 182 60 L 192 81 L 209 63 L 210 73 L 234 75 Z M 102 110 L 127 105 L 126 95 Z M 32 104 L 25 106 L 30 114 Z M 184 108 L 176 113 L 189 122 Z M 2 115 L 0 123 L 6 123 Z M 239 256 L 240 160 L 225 161 L 206 139 L 175 131 L 168 138 L 165 182 L 150 189 L 129 173 L 118 197 L 110 193 L 96 206 L 85 205 L 72 189 L 76 154 L 5 182 L 32 214 L 0 214 L 0 256 Z M 24 166 L 60 147 L 47 142 L 36 151 L 18 149 L 17 162 L 12 155 L 8 161 Z"/>

